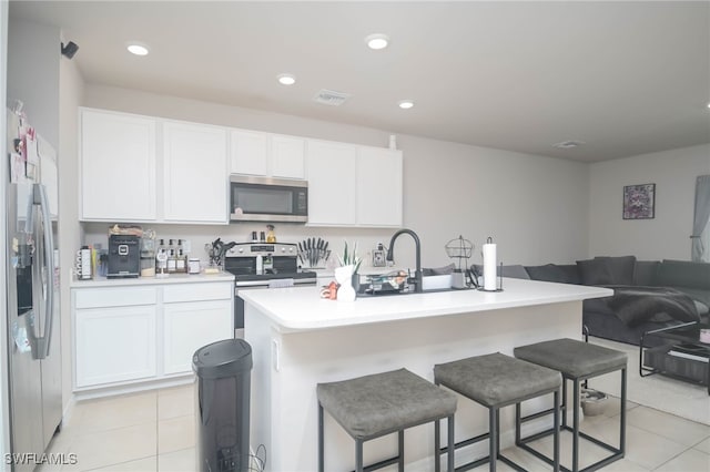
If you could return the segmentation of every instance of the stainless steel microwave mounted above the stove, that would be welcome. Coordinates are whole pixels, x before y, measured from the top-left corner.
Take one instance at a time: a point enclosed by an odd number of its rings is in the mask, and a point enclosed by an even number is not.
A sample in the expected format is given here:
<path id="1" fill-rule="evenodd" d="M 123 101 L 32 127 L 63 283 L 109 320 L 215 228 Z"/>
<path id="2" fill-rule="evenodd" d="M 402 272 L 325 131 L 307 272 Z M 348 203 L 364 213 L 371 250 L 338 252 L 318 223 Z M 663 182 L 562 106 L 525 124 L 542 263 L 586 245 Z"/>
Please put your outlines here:
<path id="1" fill-rule="evenodd" d="M 287 178 L 230 176 L 232 222 L 291 222 L 308 219 L 308 183 Z"/>

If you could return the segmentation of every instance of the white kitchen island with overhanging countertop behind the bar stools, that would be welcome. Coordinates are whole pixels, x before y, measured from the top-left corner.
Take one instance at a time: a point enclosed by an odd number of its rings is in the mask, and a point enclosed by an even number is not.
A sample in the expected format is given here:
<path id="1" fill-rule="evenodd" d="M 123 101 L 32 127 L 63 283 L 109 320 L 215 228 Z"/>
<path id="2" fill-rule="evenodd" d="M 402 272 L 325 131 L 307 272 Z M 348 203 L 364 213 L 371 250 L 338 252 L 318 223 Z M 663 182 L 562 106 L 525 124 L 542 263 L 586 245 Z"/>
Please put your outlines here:
<path id="1" fill-rule="evenodd" d="M 505 279 L 505 290 L 452 290 L 320 298 L 320 288 L 244 290 L 244 332 L 252 346 L 251 445 L 266 449 L 266 471 L 317 470 L 316 384 L 406 368 L 433 381 L 435 363 L 503 352 L 555 338 L 581 337 L 581 302 L 610 289 Z M 549 408 L 531 400 L 526 410 Z M 510 411 L 508 411 L 510 410 Z M 513 409 L 501 411 L 501 449 L 513 444 Z M 542 429 L 545 419 L 527 431 Z M 487 412 L 459 398 L 456 440 L 487 431 Z M 445 434 L 444 434 L 445 441 Z M 434 428 L 407 430 L 407 471 L 434 470 Z M 368 441 L 365 463 L 396 453 L 396 434 Z M 468 461 L 486 444 L 457 451 Z M 352 470 L 354 442 L 325 415 L 325 470 Z M 263 454 L 260 454 L 263 458 Z M 459 460 L 457 459 L 457 463 Z"/>

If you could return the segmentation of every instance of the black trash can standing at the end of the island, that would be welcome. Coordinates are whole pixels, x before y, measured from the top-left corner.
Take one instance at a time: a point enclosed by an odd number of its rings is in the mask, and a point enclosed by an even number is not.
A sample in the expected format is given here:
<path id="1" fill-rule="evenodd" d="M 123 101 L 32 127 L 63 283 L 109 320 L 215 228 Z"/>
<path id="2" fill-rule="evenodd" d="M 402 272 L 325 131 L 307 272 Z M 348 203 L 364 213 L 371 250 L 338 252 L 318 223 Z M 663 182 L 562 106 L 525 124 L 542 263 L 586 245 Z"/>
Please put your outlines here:
<path id="1" fill-rule="evenodd" d="M 248 409 L 252 347 L 243 339 L 204 346 L 192 357 L 200 472 L 250 470 Z"/>

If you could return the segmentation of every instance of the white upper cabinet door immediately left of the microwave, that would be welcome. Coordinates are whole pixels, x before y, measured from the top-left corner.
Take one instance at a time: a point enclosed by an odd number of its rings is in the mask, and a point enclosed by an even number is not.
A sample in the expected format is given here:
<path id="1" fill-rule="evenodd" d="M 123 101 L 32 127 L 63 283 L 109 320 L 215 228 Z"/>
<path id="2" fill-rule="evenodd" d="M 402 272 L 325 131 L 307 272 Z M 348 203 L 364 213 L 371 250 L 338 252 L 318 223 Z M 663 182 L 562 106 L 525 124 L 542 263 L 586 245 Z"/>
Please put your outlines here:
<path id="1" fill-rule="evenodd" d="M 163 125 L 166 222 L 229 223 L 226 131 L 168 122 Z"/>

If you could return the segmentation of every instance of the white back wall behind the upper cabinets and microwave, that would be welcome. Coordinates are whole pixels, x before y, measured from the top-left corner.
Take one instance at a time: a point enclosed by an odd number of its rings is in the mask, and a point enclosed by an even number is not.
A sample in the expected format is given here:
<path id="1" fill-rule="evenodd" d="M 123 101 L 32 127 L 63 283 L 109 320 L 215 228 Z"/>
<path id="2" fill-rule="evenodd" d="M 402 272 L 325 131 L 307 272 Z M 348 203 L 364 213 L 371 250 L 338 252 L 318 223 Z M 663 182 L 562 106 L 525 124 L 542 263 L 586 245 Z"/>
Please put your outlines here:
<path id="1" fill-rule="evenodd" d="M 387 146 L 390 134 L 93 84 L 87 84 L 84 104 L 382 147 Z M 407 135 L 397 136 L 397 146 L 404 152 L 404 223 L 420 236 L 425 266 L 448 264 L 444 246 L 458 235 L 477 246 L 471 263 L 480 261 L 480 244 L 487 236 L 499 243 L 501 259 L 510 264 L 569 261 L 586 256 L 589 185 L 586 164 Z M 105 238 L 108 225 L 85 225 L 85 229 L 88 239 Z M 264 228 L 244 224 L 158 227 L 159 235 L 165 237 L 191 237 L 193 248 L 217 236 L 223 240 L 244 242 L 253 229 Z M 377 242 L 388 244 L 393 233 L 392 229 L 308 228 L 283 224 L 276 227 L 280 240 L 323 236 L 335 246 L 334 250 L 339 250 L 343 239 L 357 240 L 363 256 Z M 396 246 L 397 265 L 412 265 L 412 243 L 403 237 Z"/>

